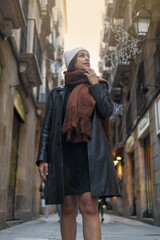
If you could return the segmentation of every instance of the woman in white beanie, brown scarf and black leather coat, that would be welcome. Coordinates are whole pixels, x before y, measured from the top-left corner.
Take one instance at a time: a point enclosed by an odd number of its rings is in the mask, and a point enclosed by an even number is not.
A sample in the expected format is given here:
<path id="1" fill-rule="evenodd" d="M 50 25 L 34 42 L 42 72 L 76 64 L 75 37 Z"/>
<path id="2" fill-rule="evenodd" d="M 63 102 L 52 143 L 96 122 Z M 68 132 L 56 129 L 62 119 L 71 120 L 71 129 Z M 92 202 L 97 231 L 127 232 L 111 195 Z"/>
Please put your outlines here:
<path id="1" fill-rule="evenodd" d="M 46 204 L 61 204 L 63 240 L 76 239 L 78 205 L 86 240 L 101 239 L 98 198 L 119 195 L 110 146 L 101 120 L 113 104 L 106 80 L 79 47 L 64 53 L 65 86 L 50 92 L 37 165 L 46 180 Z"/>

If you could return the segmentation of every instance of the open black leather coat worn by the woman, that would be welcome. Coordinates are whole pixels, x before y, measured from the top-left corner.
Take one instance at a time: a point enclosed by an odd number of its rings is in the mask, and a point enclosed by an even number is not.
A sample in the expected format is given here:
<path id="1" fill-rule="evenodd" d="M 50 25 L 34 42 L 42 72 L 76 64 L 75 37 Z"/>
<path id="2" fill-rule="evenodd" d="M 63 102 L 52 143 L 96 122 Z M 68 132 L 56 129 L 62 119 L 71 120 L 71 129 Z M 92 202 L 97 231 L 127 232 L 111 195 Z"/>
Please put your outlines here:
<path id="1" fill-rule="evenodd" d="M 110 117 L 113 104 L 105 83 L 89 87 L 96 100 L 91 118 L 91 139 L 88 141 L 88 164 L 92 196 L 119 195 L 119 186 L 113 164 L 110 146 L 101 125 L 101 119 Z M 46 181 L 46 204 L 63 203 L 63 149 L 61 138 L 62 109 L 66 92 L 60 86 L 50 92 L 43 120 L 36 164 L 48 162 L 48 180 Z"/>

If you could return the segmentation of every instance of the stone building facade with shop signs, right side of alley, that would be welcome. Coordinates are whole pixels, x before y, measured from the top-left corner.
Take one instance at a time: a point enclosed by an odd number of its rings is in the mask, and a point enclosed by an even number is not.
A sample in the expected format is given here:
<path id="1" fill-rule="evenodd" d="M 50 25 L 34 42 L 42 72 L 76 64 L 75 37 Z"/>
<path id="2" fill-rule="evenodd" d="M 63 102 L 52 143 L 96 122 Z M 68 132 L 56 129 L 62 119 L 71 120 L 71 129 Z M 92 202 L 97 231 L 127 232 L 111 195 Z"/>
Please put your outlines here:
<path id="1" fill-rule="evenodd" d="M 150 25 L 140 37 L 134 24 L 142 9 Z M 109 0 L 104 15 L 100 67 L 115 102 L 111 145 L 121 214 L 160 226 L 160 2 Z"/>

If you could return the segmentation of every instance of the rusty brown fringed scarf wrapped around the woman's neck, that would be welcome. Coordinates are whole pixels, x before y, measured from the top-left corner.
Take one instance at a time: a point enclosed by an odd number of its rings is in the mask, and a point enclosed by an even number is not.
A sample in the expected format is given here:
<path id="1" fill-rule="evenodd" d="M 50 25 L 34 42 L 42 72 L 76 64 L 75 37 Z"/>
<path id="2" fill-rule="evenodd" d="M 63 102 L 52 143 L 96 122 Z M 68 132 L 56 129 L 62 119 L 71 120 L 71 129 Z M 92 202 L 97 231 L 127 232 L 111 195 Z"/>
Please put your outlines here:
<path id="1" fill-rule="evenodd" d="M 99 77 L 98 80 L 108 85 L 106 80 Z M 62 133 L 67 133 L 67 142 L 88 142 L 91 137 L 90 117 L 96 104 L 88 90 L 90 84 L 82 70 L 65 72 L 65 84 L 76 87 L 68 98 Z M 103 120 L 102 124 L 107 137 L 109 136 L 108 120 Z"/>

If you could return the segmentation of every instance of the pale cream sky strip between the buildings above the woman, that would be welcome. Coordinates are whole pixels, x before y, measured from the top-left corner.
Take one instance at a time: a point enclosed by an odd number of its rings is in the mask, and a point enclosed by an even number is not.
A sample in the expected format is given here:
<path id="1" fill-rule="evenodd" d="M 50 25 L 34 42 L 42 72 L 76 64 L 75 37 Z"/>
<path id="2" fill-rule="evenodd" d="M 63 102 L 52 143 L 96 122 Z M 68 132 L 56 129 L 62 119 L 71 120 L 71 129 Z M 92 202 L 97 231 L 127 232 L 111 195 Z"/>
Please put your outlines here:
<path id="1" fill-rule="evenodd" d="M 103 2 L 66 0 L 68 32 L 65 36 L 65 51 L 85 47 L 91 56 L 91 67 L 97 74 Z"/>

